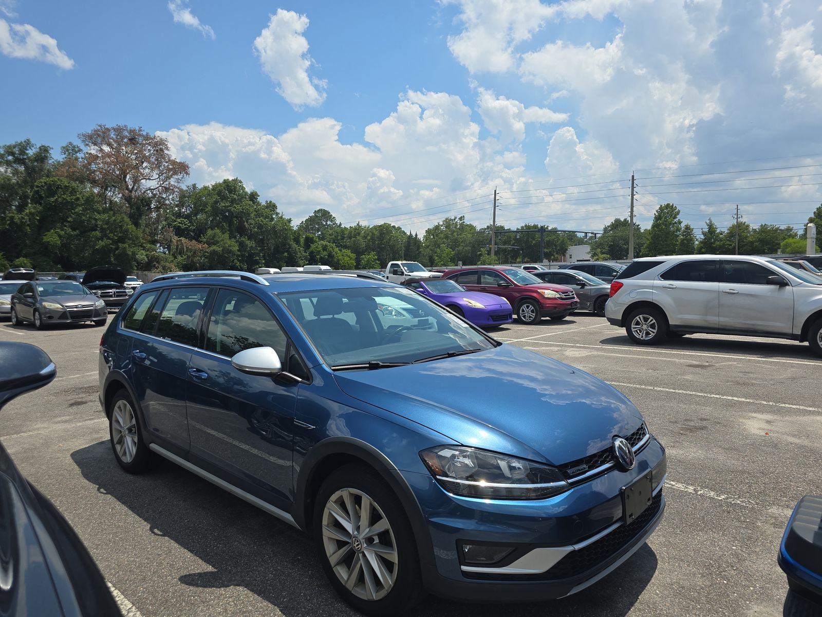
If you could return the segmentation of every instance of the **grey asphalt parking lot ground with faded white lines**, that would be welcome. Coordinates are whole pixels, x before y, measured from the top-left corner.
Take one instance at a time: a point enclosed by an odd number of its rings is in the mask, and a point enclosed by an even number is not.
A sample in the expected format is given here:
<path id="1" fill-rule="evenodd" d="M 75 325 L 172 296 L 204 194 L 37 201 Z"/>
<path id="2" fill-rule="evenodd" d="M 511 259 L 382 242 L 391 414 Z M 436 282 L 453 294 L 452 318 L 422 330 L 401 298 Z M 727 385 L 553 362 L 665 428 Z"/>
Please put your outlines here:
<path id="1" fill-rule="evenodd" d="M 2 412 L 0 438 L 80 534 L 127 617 L 352 614 L 292 527 L 170 463 L 121 471 L 97 401 L 101 334 L 0 322 L 0 340 L 34 343 L 58 364 L 53 383 Z M 418 615 L 782 613 L 783 528 L 797 499 L 822 494 L 822 360 L 806 344 L 696 335 L 638 347 L 589 313 L 493 334 L 635 402 L 667 447 L 667 513 L 578 596 L 504 608 L 429 598 Z"/>

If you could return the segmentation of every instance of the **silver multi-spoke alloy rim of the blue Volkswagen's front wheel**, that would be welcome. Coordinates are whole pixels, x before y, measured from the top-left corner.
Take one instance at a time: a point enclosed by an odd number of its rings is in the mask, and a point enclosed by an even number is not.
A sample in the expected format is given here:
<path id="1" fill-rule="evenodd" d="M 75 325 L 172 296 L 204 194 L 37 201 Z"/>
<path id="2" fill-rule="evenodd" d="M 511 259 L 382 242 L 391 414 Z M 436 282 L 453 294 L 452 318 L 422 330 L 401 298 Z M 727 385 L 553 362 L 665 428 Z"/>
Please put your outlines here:
<path id="1" fill-rule="evenodd" d="M 397 544 L 380 506 L 357 489 L 339 489 L 322 512 L 331 568 L 354 596 L 381 600 L 397 578 Z"/>

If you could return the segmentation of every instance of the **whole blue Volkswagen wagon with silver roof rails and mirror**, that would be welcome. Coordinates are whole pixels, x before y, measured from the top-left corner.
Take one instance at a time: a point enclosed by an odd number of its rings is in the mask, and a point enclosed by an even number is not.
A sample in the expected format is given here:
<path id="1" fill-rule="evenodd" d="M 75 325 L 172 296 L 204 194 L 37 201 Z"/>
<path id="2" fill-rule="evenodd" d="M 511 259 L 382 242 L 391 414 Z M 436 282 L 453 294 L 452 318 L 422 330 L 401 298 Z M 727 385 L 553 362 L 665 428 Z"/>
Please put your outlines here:
<path id="1" fill-rule="evenodd" d="M 142 285 L 99 350 L 120 466 L 165 457 L 307 531 L 369 615 L 568 596 L 643 545 L 665 449 L 626 397 L 364 276 Z"/>

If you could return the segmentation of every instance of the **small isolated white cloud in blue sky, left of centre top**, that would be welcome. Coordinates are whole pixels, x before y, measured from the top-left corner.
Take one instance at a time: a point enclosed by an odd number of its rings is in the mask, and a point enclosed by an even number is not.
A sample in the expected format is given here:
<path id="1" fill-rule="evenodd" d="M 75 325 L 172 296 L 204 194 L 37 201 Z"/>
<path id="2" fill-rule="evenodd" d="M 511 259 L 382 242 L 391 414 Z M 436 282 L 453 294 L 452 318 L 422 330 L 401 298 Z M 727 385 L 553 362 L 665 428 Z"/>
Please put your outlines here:
<path id="1" fill-rule="evenodd" d="M 254 39 L 263 71 L 294 109 L 316 107 L 326 100 L 326 81 L 308 75 L 313 61 L 308 55 L 308 41 L 302 35 L 307 27 L 307 16 L 280 8 Z"/>

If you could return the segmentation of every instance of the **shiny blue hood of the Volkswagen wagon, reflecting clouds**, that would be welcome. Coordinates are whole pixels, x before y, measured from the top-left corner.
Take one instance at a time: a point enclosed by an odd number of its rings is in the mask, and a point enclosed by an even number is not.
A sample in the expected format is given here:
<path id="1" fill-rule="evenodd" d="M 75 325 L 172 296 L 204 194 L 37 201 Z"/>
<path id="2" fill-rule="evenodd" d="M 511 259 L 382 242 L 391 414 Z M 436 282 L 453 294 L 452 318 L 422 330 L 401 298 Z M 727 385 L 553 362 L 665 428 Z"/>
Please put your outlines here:
<path id="1" fill-rule="evenodd" d="M 335 373 L 339 387 L 455 443 L 554 465 L 611 445 L 642 424 L 614 387 L 513 345 L 394 369 Z"/>

